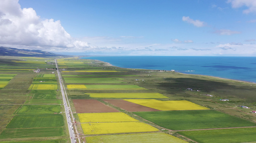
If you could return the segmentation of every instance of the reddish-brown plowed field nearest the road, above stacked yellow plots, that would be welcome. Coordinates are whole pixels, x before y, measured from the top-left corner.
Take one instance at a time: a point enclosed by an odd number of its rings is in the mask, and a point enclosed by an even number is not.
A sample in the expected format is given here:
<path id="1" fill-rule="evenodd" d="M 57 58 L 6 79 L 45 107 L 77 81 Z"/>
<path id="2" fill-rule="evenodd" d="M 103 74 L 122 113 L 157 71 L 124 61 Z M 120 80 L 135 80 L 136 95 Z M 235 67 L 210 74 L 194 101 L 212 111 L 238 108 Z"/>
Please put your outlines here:
<path id="1" fill-rule="evenodd" d="M 94 99 L 73 99 L 76 113 L 90 112 L 119 112 L 118 110 L 105 105 Z"/>

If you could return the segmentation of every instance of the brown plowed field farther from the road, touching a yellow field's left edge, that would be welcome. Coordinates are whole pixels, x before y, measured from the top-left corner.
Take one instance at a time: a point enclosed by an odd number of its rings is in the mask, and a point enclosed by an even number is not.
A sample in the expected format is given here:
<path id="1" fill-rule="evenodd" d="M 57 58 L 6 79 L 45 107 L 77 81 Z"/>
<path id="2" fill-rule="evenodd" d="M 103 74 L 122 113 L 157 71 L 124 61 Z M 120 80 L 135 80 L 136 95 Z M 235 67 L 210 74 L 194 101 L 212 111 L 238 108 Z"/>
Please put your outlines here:
<path id="1" fill-rule="evenodd" d="M 142 106 L 136 103 L 124 101 L 124 100 L 118 100 L 118 99 L 104 99 L 103 101 L 109 102 L 113 104 L 114 106 L 120 107 L 123 110 L 129 111 L 129 112 L 141 112 L 141 111 L 160 111 L 157 109 L 149 108 L 146 106 Z"/>

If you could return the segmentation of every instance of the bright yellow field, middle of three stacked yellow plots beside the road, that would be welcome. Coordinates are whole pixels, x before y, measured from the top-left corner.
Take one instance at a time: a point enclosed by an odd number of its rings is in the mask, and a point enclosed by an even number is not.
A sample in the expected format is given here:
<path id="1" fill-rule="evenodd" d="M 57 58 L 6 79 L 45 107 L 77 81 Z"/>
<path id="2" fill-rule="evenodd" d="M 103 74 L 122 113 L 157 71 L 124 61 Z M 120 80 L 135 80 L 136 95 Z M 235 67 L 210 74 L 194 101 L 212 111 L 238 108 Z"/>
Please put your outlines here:
<path id="1" fill-rule="evenodd" d="M 84 134 L 155 132 L 158 129 L 140 122 L 82 123 Z"/>

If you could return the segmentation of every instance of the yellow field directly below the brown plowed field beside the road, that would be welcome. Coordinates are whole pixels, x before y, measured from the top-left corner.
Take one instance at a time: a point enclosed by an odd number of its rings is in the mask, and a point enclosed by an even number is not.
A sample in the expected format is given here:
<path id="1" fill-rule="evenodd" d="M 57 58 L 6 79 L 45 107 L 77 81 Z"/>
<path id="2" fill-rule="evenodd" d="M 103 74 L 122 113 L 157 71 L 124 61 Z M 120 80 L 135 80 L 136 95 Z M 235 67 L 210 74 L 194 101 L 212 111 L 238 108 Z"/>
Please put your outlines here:
<path id="1" fill-rule="evenodd" d="M 123 112 L 79 113 L 81 123 L 96 122 L 139 122 Z"/>

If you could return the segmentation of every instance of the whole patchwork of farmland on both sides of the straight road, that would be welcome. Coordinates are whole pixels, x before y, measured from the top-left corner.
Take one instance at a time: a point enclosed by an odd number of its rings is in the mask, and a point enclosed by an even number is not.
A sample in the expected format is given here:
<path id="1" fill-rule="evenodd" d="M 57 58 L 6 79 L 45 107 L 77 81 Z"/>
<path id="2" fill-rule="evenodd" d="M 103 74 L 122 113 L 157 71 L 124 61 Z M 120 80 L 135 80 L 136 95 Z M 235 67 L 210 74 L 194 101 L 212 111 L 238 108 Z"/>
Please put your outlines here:
<path id="1" fill-rule="evenodd" d="M 69 143 L 54 59 L 5 58 L 0 58 L 0 143 Z M 256 114 L 250 113 L 254 83 L 73 57 L 58 64 L 81 141 L 256 142 Z M 41 72 L 32 72 L 37 68 Z"/>

